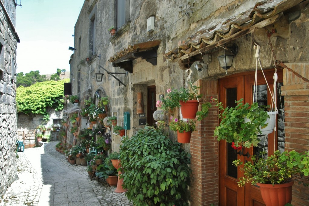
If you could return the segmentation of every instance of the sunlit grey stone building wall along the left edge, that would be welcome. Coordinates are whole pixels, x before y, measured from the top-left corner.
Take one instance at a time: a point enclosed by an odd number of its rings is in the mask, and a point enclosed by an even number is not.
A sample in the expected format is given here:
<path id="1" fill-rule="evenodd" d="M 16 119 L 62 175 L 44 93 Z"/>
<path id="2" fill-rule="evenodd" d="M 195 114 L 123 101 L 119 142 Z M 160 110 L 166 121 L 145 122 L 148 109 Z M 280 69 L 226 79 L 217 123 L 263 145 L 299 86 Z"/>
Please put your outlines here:
<path id="1" fill-rule="evenodd" d="M 16 3 L 0 0 L 0 197 L 16 174 Z"/>

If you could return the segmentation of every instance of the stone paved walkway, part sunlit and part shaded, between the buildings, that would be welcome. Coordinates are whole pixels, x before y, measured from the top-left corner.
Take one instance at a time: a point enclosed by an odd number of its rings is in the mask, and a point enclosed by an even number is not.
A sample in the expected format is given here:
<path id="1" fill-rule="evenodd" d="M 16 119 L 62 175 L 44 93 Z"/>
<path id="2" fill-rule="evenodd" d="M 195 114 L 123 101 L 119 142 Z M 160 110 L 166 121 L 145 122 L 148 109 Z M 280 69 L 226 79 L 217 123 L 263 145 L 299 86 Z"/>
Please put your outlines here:
<path id="1" fill-rule="evenodd" d="M 57 142 L 18 152 L 18 179 L 0 206 L 131 206 L 105 180 L 90 180 L 86 167 L 71 165 L 55 150 Z"/>

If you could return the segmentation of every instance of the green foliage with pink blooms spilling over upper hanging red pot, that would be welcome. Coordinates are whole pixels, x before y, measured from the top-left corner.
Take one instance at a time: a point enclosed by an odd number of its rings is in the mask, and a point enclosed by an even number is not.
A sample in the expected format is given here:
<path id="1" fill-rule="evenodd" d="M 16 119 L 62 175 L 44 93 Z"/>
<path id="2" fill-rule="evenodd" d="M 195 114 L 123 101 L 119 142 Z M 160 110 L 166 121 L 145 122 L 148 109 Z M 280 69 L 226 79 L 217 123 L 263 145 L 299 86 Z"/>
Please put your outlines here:
<path id="1" fill-rule="evenodd" d="M 163 110 L 173 109 L 175 107 L 180 107 L 179 101 L 187 102 L 188 100 L 197 100 L 202 97 L 202 95 L 197 95 L 199 88 L 197 86 L 191 85 L 191 90 L 189 88 L 181 87 L 180 89 L 168 89 L 162 101 L 157 101 L 157 107 L 161 107 Z"/>

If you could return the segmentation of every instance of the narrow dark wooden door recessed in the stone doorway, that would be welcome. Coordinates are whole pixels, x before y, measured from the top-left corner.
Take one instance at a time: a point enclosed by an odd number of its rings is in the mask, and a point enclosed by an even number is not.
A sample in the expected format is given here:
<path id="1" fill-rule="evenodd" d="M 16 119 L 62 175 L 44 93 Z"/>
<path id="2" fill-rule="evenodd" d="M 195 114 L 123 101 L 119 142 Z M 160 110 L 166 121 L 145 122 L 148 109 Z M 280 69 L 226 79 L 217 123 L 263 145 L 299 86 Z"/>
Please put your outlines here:
<path id="1" fill-rule="evenodd" d="M 156 121 L 153 118 L 154 112 L 157 110 L 155 85 L 147 87 L 147 123 L 152 126 Z"/>

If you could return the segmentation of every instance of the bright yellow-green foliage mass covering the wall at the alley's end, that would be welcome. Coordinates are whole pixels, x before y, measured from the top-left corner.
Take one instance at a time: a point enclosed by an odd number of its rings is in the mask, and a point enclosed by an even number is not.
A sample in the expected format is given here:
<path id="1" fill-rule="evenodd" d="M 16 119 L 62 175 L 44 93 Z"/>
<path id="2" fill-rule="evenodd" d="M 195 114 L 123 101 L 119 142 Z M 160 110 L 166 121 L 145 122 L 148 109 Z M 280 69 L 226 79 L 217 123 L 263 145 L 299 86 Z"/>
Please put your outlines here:
<path id="1" fill-rule="evenodd" d="M 18 87 L 16 91 L 17 111 L 26 114 L 41 114 L 44 119 L 49 118 L 47 108 L 51 107 L 60 111 L 63 109 L 63 83 L 61 81 L 45 81 L 30 87 Z"/>

